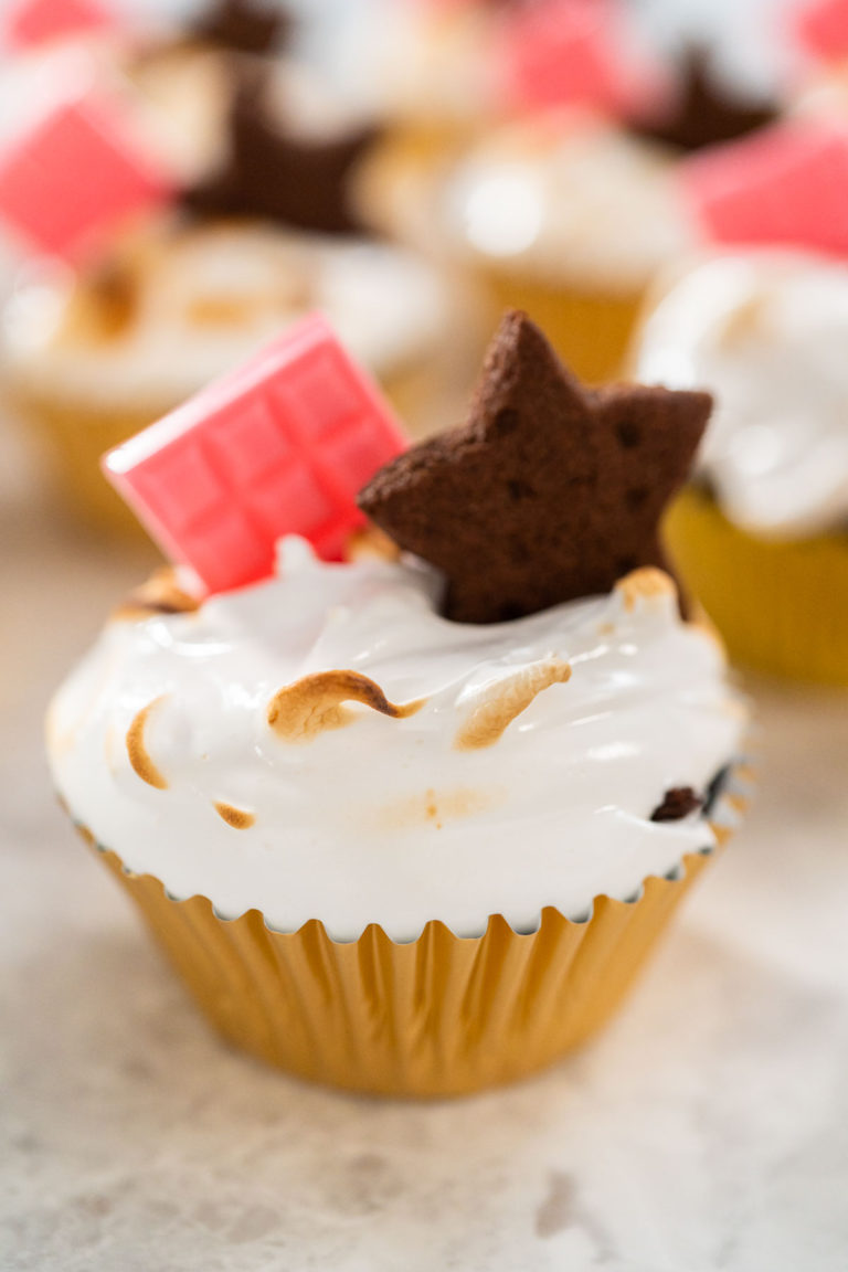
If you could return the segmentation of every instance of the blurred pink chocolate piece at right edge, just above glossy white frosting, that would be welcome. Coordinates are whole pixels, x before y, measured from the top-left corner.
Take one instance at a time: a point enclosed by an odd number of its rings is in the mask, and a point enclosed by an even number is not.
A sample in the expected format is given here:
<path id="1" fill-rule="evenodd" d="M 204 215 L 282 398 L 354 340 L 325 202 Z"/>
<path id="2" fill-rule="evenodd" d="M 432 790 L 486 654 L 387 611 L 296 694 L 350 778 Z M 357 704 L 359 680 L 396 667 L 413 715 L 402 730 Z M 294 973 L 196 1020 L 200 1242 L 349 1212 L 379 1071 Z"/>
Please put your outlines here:
<path id="1" fill-rule="evenodd" d="M 685 160 L 680 181 L 720 243 L 848 253 L 848 127 L 776 125 Z"/>

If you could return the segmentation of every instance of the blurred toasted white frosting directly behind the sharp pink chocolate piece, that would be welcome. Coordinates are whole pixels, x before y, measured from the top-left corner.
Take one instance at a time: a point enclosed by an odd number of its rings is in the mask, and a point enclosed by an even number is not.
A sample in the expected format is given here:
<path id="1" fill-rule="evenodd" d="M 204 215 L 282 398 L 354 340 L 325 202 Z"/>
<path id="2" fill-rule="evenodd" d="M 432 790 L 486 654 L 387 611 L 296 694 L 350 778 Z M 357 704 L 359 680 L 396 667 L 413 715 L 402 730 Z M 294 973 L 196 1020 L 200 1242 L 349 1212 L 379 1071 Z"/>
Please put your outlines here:
<path id="1" fill-rule="evenodd" d="M 386 375 L 439 347 L 451 290 L 389 244 L 165 220 L 100 273 L 23 285 L 4 315 L 6 368 L 37 394 L 167 408 L 313 309 L 373 374 Z"/>

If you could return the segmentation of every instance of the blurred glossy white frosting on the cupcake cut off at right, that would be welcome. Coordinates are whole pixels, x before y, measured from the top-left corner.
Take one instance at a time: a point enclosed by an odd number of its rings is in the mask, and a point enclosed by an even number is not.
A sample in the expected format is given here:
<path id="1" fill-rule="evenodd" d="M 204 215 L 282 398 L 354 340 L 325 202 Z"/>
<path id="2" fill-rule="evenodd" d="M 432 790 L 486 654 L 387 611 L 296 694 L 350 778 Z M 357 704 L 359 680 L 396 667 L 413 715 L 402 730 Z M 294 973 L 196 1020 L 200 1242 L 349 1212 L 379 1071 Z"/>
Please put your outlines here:
<path id="1" fill-rule="evenodd" d="M 798 538 L 848 523 L 848 268 L 790 252 L 711 257 L 648 314 L 639 380 L 716 396 L 699 457 L 727 516 Z"/>

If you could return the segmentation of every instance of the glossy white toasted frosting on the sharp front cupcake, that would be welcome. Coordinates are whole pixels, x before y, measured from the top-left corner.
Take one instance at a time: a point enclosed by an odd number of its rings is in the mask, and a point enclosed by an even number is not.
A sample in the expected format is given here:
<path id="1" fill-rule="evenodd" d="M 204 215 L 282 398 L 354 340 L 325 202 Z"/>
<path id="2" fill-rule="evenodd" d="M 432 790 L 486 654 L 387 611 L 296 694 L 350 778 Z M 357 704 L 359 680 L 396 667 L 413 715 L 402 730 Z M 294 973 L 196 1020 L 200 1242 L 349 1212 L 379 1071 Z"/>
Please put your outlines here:
<path id="1" fill-rule="evenodd" d="M 698 814 L 650 819 L 704 791 L 744 722 L 664 574 L 486 627 L 441 618 L 437 590 L 290 538 L 267 583 L 122 612 L 50 712 L 72 817 L 175 898 L 338 940 L 581 918 L 713 845 Z"/>

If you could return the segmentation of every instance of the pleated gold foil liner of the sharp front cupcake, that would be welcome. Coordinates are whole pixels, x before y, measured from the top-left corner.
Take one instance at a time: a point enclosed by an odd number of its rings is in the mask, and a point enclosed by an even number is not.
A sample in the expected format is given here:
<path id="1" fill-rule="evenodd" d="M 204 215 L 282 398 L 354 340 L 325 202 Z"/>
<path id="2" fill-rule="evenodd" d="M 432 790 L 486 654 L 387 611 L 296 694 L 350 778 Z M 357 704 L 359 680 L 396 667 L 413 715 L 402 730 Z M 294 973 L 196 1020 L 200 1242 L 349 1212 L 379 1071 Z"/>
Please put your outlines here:
<path id="1" fill-rule="evenodd" d="M 741 806 L 734 772 L 713 810 L 720 846 Z M 638 897 L 599 897 L 576 922 L 553 907 L 535 931 L 492 916 L 482 936 L 439 921 L 399 943 L 370 925 L 341 943 L 313 920 L 272 931 L 252 909 L 221 920 L 205 897 L 170 898 L 151 875 L 109 870 L 209 1020 L 236 1047 L 300 1077 L 381 1095 L 460 1095 L 538 1070 L 614 1013 L 715 850 L 650 878 Z"/>

